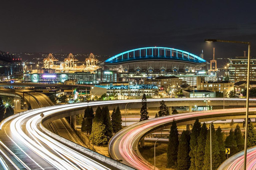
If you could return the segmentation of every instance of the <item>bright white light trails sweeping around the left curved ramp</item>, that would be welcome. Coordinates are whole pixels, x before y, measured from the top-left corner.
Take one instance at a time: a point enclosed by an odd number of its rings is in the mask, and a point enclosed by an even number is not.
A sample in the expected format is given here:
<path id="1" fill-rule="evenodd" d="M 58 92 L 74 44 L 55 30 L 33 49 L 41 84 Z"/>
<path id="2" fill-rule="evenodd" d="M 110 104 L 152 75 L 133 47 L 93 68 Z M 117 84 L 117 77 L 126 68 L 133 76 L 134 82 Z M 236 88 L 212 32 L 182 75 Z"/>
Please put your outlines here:
<path id="1" fill-rule="evenodd" d="M 95 103 L 91 103 L 91 105 L 95 105 Z M 86 106 L 85 103 L 79 103 L 75 106 L 56 106 L 54 107 L 54 109 L 52 109 L 52 111 L 49 111 L 49 108 L 40 109 L 38 111 L 32 111 L 31 113 L 27 113 L 25 115 L 13 119 L 13 121 L 11 122 L 11 129 L 13 129 L 12 133 L 14 133 L 16 137 L 27 147 L 32 149 L 35 153 L 40 155 L 43 159 L 45 159 L 58 169 L 108 169 L 104 165 L 101 165 L 98 162 L 68 148 L 67 146 L 57 142 L 56 140 L 52 139 L 46 134 L 43 134 L 39 129 L 37 129 L 37 124 L 40 123 L 41 120 L 40 113 L 42 112 L 46 116 L 51 113 L 84 106 Z M 32 116 L 32 118 L 29 118 L 29 116 Z M 27 118 L 29 119 L 26 123 L 26 129 L 31 138 L 28 137 L 21 129 L 22 122 L 25 121 L 25 119 Z M 34 139 L 34 141 L 32 139 Z M 48 151 L 48 149 L 46 149 L 41 142 L 44 143 L 47 147 L 51 148 L 54 152 L 56 152 L 56 154 L 59 155 L 59 157 Z M 72 162 L 74 162 L 75 164 Z"/>

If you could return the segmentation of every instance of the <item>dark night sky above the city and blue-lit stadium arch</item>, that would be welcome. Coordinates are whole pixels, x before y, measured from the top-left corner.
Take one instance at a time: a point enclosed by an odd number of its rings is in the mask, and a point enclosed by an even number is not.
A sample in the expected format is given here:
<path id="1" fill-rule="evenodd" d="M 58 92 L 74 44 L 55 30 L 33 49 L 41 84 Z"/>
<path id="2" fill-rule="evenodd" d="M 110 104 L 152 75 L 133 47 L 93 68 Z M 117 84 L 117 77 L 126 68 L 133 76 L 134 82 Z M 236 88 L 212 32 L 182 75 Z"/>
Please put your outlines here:
<path id="1" fill-rule="evenodd" d="M 166 46 L 205 59 L 243 56 L 247 45 L 204 39 L 250 41 L 256 52 L 256 2 L 236 0 L 1 0 L 0 50 L 115 55 Z"/>

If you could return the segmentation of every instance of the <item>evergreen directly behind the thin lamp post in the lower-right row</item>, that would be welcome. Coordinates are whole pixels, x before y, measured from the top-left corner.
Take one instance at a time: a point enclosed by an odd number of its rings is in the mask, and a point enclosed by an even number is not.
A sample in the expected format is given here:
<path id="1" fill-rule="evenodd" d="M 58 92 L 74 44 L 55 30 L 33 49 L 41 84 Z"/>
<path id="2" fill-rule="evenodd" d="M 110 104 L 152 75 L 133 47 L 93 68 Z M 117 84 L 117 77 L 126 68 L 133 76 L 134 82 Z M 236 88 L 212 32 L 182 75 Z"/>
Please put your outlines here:
<path id="1" fill-rule="evenodd" d="M 214 129 L 214 125 L 211 124 L 211 155 L 212 155 L 212 169 L 216 170 L 220 165 L 220 158 L 219 158 L 219 146 L 218 141 L 216 137 L 216 131 Z M 206 138 L 206 144 L 205 144 L 205 155 L 204 155 L 204 166 L 203 170 L 209 170 L 210 169 L 210 129 L 207 131 L 207 138 Z"/>

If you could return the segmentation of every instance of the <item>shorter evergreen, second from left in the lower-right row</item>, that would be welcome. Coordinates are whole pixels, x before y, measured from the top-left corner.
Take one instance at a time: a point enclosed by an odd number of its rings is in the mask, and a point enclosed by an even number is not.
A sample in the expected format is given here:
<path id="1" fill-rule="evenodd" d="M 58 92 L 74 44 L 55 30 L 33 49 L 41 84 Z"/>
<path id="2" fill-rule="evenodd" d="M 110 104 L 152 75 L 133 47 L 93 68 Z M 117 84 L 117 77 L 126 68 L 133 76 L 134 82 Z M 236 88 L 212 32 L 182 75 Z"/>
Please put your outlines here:
<path id="1" fill-rule="evenodd" d="M 177 156 L 178 170 L 188 170 L 190 167 L 189 141 L 190 141 L 190 131 L 183 131 L 181 134 L 181 139 L 179 141 L 179 147 L 178 147 L 178 156 Z"/>

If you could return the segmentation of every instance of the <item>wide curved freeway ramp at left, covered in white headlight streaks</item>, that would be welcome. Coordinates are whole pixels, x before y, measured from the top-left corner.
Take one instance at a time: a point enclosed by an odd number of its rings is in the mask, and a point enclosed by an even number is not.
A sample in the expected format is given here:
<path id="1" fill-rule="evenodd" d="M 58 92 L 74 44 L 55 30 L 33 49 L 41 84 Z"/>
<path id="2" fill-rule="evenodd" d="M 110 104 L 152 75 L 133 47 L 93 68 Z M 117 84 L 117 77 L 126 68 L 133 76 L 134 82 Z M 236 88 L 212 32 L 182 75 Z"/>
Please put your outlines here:
<path id="1" fill-rule="evenodd" d="M 50 106 L 21 112 L 3 120 L 0 123 L 0 169 L 133 170 L 58 135 L 47 133 L 41 124 L 42 120 L 51 118 L 52 114 L 84 110 L 87 105 L 75 103 Z M 40 116 L 42 113 L 43 118 Z"/>

